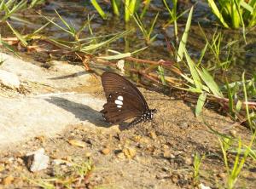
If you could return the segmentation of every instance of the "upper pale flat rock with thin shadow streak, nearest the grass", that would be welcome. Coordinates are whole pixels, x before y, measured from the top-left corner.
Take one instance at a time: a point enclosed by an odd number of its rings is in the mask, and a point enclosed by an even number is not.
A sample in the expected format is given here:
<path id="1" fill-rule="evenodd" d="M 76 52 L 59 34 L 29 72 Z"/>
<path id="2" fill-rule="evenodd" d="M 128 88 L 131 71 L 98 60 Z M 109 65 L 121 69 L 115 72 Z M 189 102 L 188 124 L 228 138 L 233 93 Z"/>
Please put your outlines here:
<path id="1" fill-rule="evenodd" d="M 55 62 L 51 69 L 45 69 L 9 54 L 0 53 L 0 57 L 4 60 L 1 69 L 14 73 L 21 82 L 40 83 L 55 89 L 69 89 L 88 83 L 90 77 L 83 66 L 74 66 L 66 62 Z"/>

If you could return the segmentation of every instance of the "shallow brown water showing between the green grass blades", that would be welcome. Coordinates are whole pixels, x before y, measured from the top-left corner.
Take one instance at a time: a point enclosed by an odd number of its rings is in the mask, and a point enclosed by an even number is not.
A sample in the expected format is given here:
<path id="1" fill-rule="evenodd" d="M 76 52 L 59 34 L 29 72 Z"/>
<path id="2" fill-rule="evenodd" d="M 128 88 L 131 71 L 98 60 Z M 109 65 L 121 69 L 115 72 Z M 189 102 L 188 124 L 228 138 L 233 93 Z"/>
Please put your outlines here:
<path id="1" fill-rule="evenodd" d="M 184 9 L 188 9 L 191 5 L 192 3 L 181 3 L 179 6 L 179 12 L 182 12 Z M 15 26 L 16 30 L 26 34 L 27 32 L 34 31 L 47 22 L 37 12 L 40 12 L 49 18 L 55 17 L 55 21 L 63 26 L 55 14 L 56 9 L 56 11 L 61 14 L 62 18 L 67 20 L 67 22 L 72 23 L 76 29 L 79 29 L 79 26 L 84 23 L 84 20 L 87 20 L 88 15 L 91 16 L 94 14 L 94 18 L 91 20 L 90 24 L 94 32 L 93 36 L 95 37 L 125 31 L 126 29 L 133 30 L 132 33 L 127 35 L 125 38 L 120 38 L 119 40 L 109 44 L 108 47 L 104 47 L 102 50 L 96 51 L 96 53 L 105 54 L 106 49 L 114 49 L 118 50 L 119 52 L 132 52 L 146 46 L 141 31 L 139 31 L 138 27 L 134 23 L 129 24 L 129 26 L 125 26 L 122 19 L 119 20 L 118 18 L 112 17 L 110 14 L 111 8 L 107 6 L 107 4 L 102 4 L 102 8 L 105 8 L 105 11 L 109 12 L 108 20 L 102 20 L 96 13 L 96 10 L 90 5 L 89 1 L 87 3 L 84 3 L 84 1 L 49 1 L 49 3 L 37 9 L 26 11 L 26 14 L 23 12 L 15 15 L 24 20 L 28 20 L 31 22 L 31 24 L 23 24 L 16 20 L 9 20 L 9 22 L 12 24 L 12 26 Z M 154 20 L 154 15 L 158 11 L 160 11 L 160 17 L 154 29 L 154 34 L 158 34 L 158 36 L 156 37 L 154 43 L 148 46 L 148 49 L 136 54 L 135 56 L 147 60 L 175 60 L 166 47 L 166 37 L 172 43 L 175 41 L 173 36 L 173 26 L 168 26 L 166 29 L 163 29 L 162 26 L 166 24 L 169 15 L 166 12 L 166 9 L 163 9 L 162 5 L 158 3 L 158 1 L 152 1 L 152 6 L 148 10 L 148 14 L 144 18 L 143 23 L 149 25 L 150 22 Z M 206 40 L 203 37 L 198 23 L 200 23 L 201 28 L 203 28 L 203 31 L 206 33 L 208 40 L 211 41 L 212 35 L 217 29 L 217 26 L 213 25 L 214 22 L 212 22 L 212 18 L 213 16 L 211 11 L 207 8 L 207 3 L 203 3 L 203 1 L 201 1 L 195 4 L 193 23 L 189 30 L 189 40 L 187 43 L 189 54 L 195 59 L 200 57 L 201 49 L 203 49 L 204 45 L 206 44 Z M 186 19 L 187 14 L 178 20 L 179 38 L 182 37 Z M 237 41 L 230 49 L 230 54 L 232 57 L 230 59 L 231 64 L 227 69 L 228 71 L 225 72 L 224 75 L 228 76 L 230 81 L 241 80 L 241 73 L 243 71 L 246 71 L 247 77 L 252 77 L 252 75 L 256 73 L 256 31 L 249 31 L 247 34 L 247 44 L 243 40 L 241 30 L 224 30 L 219 27 L 218 31 L 222 31 L 224 36 L 221 43 L 223 49 L 221 50 L 220 54 L 220 59 L 222 61 L 226 59 L 225 57 L 229 51 L 229 49 L 225 49 L 224 46 L 227 43 Z M 4 37 L 13 36 L 10 35 L 9 32 L 10 31 L 8 29 L 1 30 Z M 72 37 L 68 36 L 67 33 L 61 31 L 59 28 L 53 25 L 49 25 L 44 29 L 44 35 L 55 39 L 72 40 Z M 91 37 L 87 28 L 81 32 L 80 37 Z M 209 49 L 207 52 L 210 52 Z M 49 54 L 38 54 L 32 52 L 26 53 L 26 55 L 32 55 L 36 60 L 43 62 L 49 59 Z M 216 65 L 216 61 L 214 60 L 212 54 L 207 53 L 202 61 L 202 64 L 210 70 L 214 70 L 214 73 L 212 74 L 219 76 L 217 79 L 219 82 L 224 81 L 224 78 L 222 77 L 223 72 L 220 66 Z M 178 66 L 185 68 L 185 66 L 182 64 Z"/>

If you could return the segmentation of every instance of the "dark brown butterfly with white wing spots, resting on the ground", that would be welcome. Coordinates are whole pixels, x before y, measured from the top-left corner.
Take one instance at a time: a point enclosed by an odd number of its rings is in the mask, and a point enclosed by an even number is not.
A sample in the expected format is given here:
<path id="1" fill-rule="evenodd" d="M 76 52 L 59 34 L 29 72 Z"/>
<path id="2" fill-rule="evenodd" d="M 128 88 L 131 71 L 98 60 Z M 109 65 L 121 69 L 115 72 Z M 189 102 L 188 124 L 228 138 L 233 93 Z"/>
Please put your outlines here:
<path id="1" fill-rule="evenodd" d="M 113 72 L 102 74 L 102 86 L 107 103 L 103 106 L 102 116 L 108 123 L 121 123 L 136 117 L 128 128 L 151 120 L 156 109 L 149 109 L 143 94 L 125 77 Z"/>

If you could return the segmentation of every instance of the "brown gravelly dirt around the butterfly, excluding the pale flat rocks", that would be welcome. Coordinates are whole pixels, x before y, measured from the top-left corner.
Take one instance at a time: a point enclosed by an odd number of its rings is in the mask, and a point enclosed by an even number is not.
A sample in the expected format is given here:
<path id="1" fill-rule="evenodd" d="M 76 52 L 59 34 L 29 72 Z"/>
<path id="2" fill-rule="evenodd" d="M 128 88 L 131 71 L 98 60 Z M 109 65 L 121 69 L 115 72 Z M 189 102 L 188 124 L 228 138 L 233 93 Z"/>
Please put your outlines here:
<path id="1" fill-rule="evenodd" d="M 44 72 L 51 73 L 50 70 Z M 26 98 L 35 91 L 45 94 L 49 89 L 49 86 L 39 86 L 30 85 L 28 88 L 23 85 L 22 90 L 2 88 L 1 92 L 6 94 L 5 99 L 13 100 L 17 94 Z M 67 88 L 56 86 L 50 88 L 51 93 L 75 92 L 90 94 L 96 102 L 105 100 L 100 78 L 96 76 L 91 76 L 86 85 L 73 84 Z M 91 161 L 90 174 L 79 186 L 73 185 L 76 188 L 196 188 L 201 183 L 211 188 L 224 187 L 227 173 L 218 135 L 212 134 L 207 126 L 226 135 L 241 136 L 246 142 L 250 139 L 250 131 L 214 110 L 205 109 L 201 117 L 195 117 L 195 107 L 183 100 L 173 99 L 172 94 L 140 90 L 148 106 L 158 111 L 152 122 L 138 124 L 132 129 L 125 129 L 126 123 L 109 125 L 104 123 L 96 108 L 83 108 L 81 104 L 83 115 L 77 117 L 81 119 L 79 123 L 67 123 L 65 129 L 58 130 L 54 137 L 36 133 L 3 148 L 0 153 L 0 188 L 37 188 L 43 186 L 44 179 L 67 173 L 67 165 L 53 165 L 55 159 L 78 164 Z M 65 100 L 61 104 L 63 109 L 73 108 L 68 107 L 72 103 Z M 87 116 L 84 121 L 81 118 L 84 115 L 94 118 Z M 40 120 L 45 117 L 37 118 Z M 54 123 L 52 127 L 55 127 Z M 73 145 L 70 140 L 82 142 L 84 146 Z M 45 149 L 51 163 L 48 169 L 32 173 L 26 167 L 24 156 L 41 147 Z M 201 156 L 205 154 L 198 181 L 193 176 L 196 152 Z M 232 157 L 235 156 L 230 153 L 229 158 Z M 253 188 L 256 185 L 255 166 L 255 161 L 249 158 L 236 188 Z M 56 169 L 61 170 L 56 172 Z M 64 186 L 60 182 L 56 185 L 59 188 Z"/>

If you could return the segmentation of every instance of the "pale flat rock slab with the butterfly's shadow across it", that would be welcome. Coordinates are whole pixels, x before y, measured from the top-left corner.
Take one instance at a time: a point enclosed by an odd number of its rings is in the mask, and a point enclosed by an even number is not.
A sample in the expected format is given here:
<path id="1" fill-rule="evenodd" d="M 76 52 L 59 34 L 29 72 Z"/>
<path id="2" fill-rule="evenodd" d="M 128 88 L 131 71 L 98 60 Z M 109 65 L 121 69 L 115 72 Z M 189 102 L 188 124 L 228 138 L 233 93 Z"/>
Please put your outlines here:
<path id="1" fill-rule="evenodd" d="M 99 112 L 103 104 L 90 94 L 13 99 L 0 96 L 0 148 L 37 135 L 53 137 L 70 124 L 106 127 Z"/>

